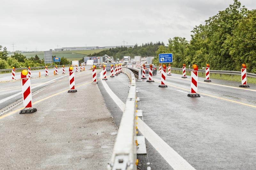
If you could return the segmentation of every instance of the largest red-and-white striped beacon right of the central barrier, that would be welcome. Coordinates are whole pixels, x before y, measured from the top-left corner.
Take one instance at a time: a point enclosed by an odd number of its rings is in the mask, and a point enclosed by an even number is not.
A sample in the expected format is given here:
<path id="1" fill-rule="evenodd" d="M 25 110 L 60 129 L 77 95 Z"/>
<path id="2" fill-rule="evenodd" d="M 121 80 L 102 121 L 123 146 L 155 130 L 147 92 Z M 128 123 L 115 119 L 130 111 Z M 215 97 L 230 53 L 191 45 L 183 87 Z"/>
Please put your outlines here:
<path id="1" fill-rule="evenodd" d="M 188 93 L 188 97 L 200 97 L 200 94 L 197 93 L 198 67 L 196 64 L 193 64 L 192 67 L 194 70 L 191 71 L 190 93 Z"/>

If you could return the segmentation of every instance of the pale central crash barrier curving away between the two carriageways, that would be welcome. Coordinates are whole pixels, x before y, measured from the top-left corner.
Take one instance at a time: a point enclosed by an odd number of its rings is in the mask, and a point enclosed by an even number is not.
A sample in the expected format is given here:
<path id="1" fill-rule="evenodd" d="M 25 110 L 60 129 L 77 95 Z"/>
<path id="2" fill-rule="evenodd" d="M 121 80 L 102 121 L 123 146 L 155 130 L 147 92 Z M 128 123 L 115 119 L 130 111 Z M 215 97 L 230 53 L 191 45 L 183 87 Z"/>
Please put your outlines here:
<path id="1" fill-rule="evenodd" d="M 127 68 L 123 67 L 122 72 L 129 77 L 131 87 L 125 103 L 112 157 L 110 163 L 108 163 L 108 170 L 137 170 L 135 77 L 132 71 Z"/>

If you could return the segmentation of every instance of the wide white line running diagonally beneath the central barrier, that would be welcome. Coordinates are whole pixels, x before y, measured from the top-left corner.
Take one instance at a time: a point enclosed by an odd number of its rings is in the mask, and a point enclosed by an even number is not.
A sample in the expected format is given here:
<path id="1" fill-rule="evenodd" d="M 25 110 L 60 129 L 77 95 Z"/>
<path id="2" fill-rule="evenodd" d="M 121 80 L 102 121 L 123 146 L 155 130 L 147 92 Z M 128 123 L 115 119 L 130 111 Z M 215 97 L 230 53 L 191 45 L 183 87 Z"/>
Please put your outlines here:
<path id="1" fill-rule="evenodd" d="M 100 73 L 100 78 L 103 78 L 102 72 Z M 109 88 L 105 80 L 102 83 L 110 95 L 110 97 L 116 102 L 116 104 L 122 105 L 120 109 L 124 111 L 124 102 L 120 100 L 116 94 Z M 107 88 L 106 88 L 107 87 Z M 122 104 L 121 104 L 122 103 Z M 140 132 L 147 138 L 148 142 L 156 149 L 157 152 L 168 162 L 174 170 L 195 170 L 184 158 L 182 158 L 176 151 L 174 151 L 171 146 L 166 144 L 161 137 L 159 137 L 146 123 L 144 123 L 139 117 L 137 119 L 138 128 Z"/>

